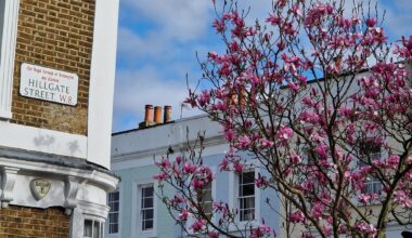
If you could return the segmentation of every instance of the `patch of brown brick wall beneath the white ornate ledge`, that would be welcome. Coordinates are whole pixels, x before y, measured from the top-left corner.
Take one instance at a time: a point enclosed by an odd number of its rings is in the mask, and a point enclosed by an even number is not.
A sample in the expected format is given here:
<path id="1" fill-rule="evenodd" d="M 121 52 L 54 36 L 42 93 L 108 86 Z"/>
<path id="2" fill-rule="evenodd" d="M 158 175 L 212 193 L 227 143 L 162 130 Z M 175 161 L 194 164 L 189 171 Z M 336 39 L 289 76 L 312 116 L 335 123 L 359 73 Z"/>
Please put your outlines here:
<path id="1" fill-rule="evenodd" d="M 68 238 L 69 216 L 63 208 L 35 209 L 10 206 L 0 209 L 0 238 Z"/>

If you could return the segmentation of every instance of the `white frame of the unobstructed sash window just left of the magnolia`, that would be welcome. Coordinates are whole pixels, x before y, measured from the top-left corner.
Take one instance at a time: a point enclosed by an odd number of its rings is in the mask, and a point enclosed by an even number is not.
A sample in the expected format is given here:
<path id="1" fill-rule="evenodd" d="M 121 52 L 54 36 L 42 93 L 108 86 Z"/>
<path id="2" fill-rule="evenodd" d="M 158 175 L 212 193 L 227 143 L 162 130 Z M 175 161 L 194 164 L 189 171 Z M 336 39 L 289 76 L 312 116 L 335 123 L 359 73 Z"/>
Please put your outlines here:
<path id="1" fill-rule="evenodd" d="M 141 220 L 141 200 L 142 200 L 142 190 L 141 188 L 147 185 L 153 185 L 154 196 L 153 196 L 153 229 L 142 230 L 142 220 Z M 136 181 L 133 183 L 132 190 L 132 215 L 131 215 L 131 234 L 132 237 L 142 237 L 150 238 L 157 236 L 157 202 L 156 197 L 157 182 L 153 178 L 143 178 Z"/>

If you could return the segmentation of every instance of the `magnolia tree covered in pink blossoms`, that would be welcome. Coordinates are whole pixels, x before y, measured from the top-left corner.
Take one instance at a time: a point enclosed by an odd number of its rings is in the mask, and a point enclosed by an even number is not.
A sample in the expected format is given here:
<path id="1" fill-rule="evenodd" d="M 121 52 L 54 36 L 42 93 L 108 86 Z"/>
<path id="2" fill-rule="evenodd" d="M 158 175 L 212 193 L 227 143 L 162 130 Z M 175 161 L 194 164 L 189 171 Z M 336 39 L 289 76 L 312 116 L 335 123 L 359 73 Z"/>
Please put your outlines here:
<path id="1" fill-rule="evenodd" d="M 274 0 L 250 26 L 236 3 L 213 4 L 226 53 L 201 62 L 210 87 L 186 102 L 222 124 L 222 172 L 245 170 L 241 155 L 259 161 L 255 184 L 279 195 L 280 208 L 268 206 L 284 225 L 240 227 L 236 208 L 206 202 L 215 174 L 202 137 L 199 150 L 157 163 L 178 224 L 209 237 L 384 237 L 411 224 L 412 38 L 389 43 L 377 8 L 361 1 Z"/>

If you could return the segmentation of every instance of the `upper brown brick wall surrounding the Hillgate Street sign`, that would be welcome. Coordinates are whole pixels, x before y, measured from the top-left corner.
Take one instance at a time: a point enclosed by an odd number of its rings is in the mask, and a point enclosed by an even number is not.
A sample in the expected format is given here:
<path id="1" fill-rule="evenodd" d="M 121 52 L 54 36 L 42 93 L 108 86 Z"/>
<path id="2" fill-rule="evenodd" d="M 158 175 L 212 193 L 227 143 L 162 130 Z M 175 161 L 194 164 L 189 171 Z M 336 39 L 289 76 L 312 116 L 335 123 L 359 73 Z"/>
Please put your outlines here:
<path id="1" fill-rule="evenodd" d="M 21 0 L 11 122 L 87 134 L 94 0 Z M 77 74 L 78 104 L 18 94 L 22 63 Z"/>

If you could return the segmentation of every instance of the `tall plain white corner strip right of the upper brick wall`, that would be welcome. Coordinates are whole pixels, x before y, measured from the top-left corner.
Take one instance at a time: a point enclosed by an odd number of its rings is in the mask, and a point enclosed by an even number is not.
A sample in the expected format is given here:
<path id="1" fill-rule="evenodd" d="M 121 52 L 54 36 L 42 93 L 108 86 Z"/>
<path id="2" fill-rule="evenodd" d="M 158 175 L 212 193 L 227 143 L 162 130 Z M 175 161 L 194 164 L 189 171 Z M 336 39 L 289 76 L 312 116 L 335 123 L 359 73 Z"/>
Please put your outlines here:
<path id="1" fill-rule="evenodd" d="M 111 164 L 111 134 L 119 0 L 95 2 L 90 70 L 88 161 Z"/>

